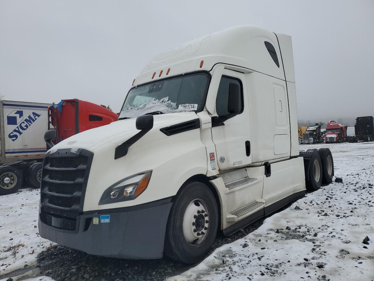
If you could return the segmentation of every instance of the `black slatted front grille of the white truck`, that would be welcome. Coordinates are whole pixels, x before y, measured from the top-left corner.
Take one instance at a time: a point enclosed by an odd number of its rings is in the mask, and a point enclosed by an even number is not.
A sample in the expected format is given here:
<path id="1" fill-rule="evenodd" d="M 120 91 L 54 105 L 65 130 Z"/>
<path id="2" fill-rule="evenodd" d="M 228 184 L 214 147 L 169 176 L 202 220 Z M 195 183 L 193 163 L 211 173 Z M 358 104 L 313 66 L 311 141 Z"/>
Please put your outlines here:
<path id="1" fill-rule="evenodd" d="M 40 219 L 64 230 L 77 229 L 91 166 L 92 153 L 61 149 L 48 154 L 43 162 Z"/>

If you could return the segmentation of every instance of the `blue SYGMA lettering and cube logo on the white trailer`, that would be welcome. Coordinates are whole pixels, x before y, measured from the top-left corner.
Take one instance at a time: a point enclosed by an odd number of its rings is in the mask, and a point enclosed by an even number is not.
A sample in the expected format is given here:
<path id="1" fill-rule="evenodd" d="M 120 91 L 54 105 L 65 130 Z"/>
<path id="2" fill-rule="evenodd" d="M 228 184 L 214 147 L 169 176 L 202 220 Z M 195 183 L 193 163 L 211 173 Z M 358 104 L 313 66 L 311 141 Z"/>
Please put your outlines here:
<path id="1" fill-rule="evenodd" d="M 39 117 L 40 117 L 40 114 L 37 114 L 36 112 L 33 112 L 32 114 L 28 115 L 27 118 L 24 118 L 22 110 L 13 110 L 12 112 L 10 112 L 8 116 L 6 117 L 7 125 L 18 125 L 18 126 L 12 132 L 10 132 L 10 134 L 8 135 L 8 138 L 14 142 Z"/>

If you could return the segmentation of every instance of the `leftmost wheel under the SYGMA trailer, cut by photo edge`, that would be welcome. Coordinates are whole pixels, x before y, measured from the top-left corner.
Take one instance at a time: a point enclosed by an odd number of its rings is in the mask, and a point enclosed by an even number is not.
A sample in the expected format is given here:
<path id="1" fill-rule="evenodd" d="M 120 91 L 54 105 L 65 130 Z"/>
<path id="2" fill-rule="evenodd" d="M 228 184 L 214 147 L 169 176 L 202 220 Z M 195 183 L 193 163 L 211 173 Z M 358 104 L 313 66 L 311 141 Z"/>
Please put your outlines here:
<path id="1" fill-rule="evenodd" d="M 11 166 L 0 167 L 0 195 L 11 194 L 22 185 L 23 176 L 20 170 Z"/>

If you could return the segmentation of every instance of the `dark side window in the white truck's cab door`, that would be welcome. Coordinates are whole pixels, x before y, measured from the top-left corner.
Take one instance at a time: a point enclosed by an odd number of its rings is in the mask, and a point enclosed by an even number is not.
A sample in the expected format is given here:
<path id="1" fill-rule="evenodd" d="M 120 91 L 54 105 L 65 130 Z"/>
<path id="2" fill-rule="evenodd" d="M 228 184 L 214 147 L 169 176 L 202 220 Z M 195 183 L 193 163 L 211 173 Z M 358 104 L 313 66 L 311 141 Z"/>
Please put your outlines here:
<path id="1" fill-rule="evenodd" d="M 229 85 L 230 83 L 236 83 L 240 87 L 240 92 L 242 93 L 240 97 L 240 113 L 243 111 L 243 87 L 242 83 L 238 79 L 232 77 L 222 76 L 220 85 L 218 86 L 217 99 L 216 99 L 216 110 L 218 116 L 223 116 L 229 114 L 227 106 L 229 105 Z"/>

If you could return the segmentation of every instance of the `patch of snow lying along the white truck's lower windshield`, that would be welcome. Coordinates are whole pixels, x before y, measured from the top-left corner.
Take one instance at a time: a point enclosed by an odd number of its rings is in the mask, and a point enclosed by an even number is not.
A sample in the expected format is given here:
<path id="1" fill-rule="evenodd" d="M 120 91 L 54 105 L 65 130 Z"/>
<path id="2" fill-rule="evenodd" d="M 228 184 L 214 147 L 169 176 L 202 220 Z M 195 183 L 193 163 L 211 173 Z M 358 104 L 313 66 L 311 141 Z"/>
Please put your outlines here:
<path id="1" fill-rule="evenodd" d="M 145 102 L 137 106 L 127 105 L 120 113 L 119 118 L 135 118 L 151 112 L 160 111 L 162 113 L 186 112 L 190 109 L 177 108 L 177 103 L 169 100 L 169 97 L 163 99 L 151 99 L 149 103 Z"/>

